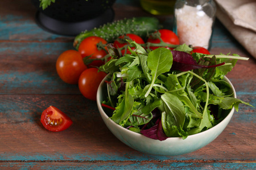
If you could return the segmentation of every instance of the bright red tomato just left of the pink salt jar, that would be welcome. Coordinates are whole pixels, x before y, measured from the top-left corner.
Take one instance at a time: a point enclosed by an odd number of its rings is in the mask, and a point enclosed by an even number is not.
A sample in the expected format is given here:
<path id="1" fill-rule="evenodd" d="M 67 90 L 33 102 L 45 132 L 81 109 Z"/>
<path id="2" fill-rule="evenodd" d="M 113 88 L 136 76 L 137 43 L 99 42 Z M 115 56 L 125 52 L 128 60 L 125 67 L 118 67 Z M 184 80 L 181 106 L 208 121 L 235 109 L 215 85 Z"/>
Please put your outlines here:
<path id="1" fill-rule="evenodd" d="M 166 42 L 167 44 L 174 44 L 174 45 L 179 45 L 180 44 L 179 38 L 171 30 L 169 30 L 169 29 L 159 29 L 159 33 L 160 33 L 160 38 L 164 42 Z M 149 37 L 147 39 L 147 42 L 159 43 L 160 40 L 159 39 L 153 39 L 152 37 Z M 156 48 L 159 48 L 159 46 L 150 46 L 150 49 L 154 50 Z"/>

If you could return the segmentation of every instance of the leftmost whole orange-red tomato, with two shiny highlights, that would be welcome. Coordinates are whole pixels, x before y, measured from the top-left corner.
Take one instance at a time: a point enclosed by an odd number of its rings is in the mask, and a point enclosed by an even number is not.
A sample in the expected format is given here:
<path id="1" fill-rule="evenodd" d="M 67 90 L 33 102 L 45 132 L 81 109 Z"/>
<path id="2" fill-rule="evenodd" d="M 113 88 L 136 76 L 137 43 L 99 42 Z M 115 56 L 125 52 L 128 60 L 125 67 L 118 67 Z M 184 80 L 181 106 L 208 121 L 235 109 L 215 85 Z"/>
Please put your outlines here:
<path id="1" fill-rule="evenodd" d="M 87 69 L 82 61 L 82 56 L 76 50 L 67 50 L 60 54 L 56 62 L 57 74 L 69 84 L 77 84 L 79 76 Z"/>

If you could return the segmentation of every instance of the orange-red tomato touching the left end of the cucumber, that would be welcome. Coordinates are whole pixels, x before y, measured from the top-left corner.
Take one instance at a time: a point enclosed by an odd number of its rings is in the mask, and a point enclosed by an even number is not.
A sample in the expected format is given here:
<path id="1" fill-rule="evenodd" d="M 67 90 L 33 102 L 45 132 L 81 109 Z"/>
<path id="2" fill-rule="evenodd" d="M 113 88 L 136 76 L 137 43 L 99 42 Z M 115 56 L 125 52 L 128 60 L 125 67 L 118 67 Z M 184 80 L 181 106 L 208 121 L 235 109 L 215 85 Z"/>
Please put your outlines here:
<path id="1" fill-rule="evenodd" d="M 82 40 L 81 44 L 79 45 L 79 52 L 81 53 L 82 57 L 91 56 L 90 58 L 103 58 L 106 56 L 106 51 L 104 49 L 98 50 L 97 44 L 102 42 L 102 44 L 107 44 L 107 41 L 102 39 L 101 37 L 97 36 L 90 36 Z M 107 48 L 105 47 L 107 50 Z M 101 66 L 104 64 L 104 61 L 95 60 L 90 63 L 88 66 Z"/>

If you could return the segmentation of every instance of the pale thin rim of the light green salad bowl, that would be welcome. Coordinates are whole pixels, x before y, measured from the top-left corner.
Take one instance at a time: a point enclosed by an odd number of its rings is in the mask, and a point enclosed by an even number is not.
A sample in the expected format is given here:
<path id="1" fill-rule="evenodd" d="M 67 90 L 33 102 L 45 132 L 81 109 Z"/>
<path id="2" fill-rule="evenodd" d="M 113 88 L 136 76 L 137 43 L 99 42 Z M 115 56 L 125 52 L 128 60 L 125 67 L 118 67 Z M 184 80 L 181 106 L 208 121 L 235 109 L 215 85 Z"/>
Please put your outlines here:
<path id="1" fill-rule="evenodd" d="M 103 114 L 101 114 L 101 116 L 104 116 L 107 120 L 109 120 L 110 122 L 112 122 L 115 127 L 117 127 L 118 129 L 125 130 L 127 133 L 131 133 L 131 134 L 133 134 L 133 135 L 137 135 L 138 137 L 145 137 L 145 138 L 147 138 L 147 139 L 149 139 L 149 140 L 159 141 L 159 140 L 157 140 L 157 139 L 148 138 L 148 137 L 144 136 L 143 134 L 136 133 L 135 131 L 131 131 L 131 130 L 129 130 L 129 129 L 123 128 L 122 126 L 120 126 L 120 125 L 118 125 L 117 123 L 115 123 L 115 122 L 104 112 L 104 109 L 103 109 L 102 106 L 101 106 L 101 102 L 102 102 L 102 101 L 100 101 L 100 95 L 101 95 L 101 92 L 102 92 L 102 91 L 101 91 L 101 88 L 104 86 L 105 80 L 106 80 L 107 78 L 108 78 L 108 75 L 106 75 L 105 78 L 101 81 L 100 86 L 98 87 L 98 91 L 97 91 L 97 99 L 96 99 L 96 101 L 97 101 L 97 106 L 98 106 L 99 111 L 100 111 L 101 113 L 103 113 Z M 234 86 L 233 86 L 233 84 L 230 82 L 230 80 L 229 80 L 226 76 L 224 76 L 224 78 L 223 78 L 222 80 L 224 80 L 225 82 L 228 82 L 228 83 L 229 83 L 229 85 L 230 85 L 232 91 L 234 92 L 234 93 L 233 93 L 233 97 L 234 97 L 234 98 L 237 98 L 236 90 L 234 89 Z M 205 133 L 209 133 L 210 131 L 214 131 L 214 130 L 217 129 L 218 127 L 222 126 L 222 124 L 225 125 L 225 124 L 226 124 L 225 121 L 228 120 L 228 118 L 231 118 L 231 117 L 233 116 L 233 113 L 234 113 L 234 107 L 232 107 L 232 109 L 230 109 L 229 114 L 228 114 L 228 115 L 224 118 L 224 120 L 222 120 L 220 123 L 218 123 L 217 125 L 213 126 L 213 127 L 210 128 L 210 129 L 207 129 L 207 130 L 205 130 L 205 131 L 201 131 L 200 133 L 188 135 L 188 137 L 187 137 L 186 139 L 195 138 L 195 137 L 197 137 L 197 136 L 199 136 L 199 135 L 203 135 L 203 134 L 205 134 Z M 225 128 L 224 128 L 224 129 L 225 129 Z M 185 139 L 185 140 L 186 140 L 186 139 Z M 171 141 L 174 142 L 174 141 L 177 141 L 177 140 L 179 140 L 179 141 L 182 140 L 182 141 L 183 141 L 182 137 L 168 137 L 166 140 L 164 140 L 164 141 L 159 141 L 159 142 L 171 142 Z"/>

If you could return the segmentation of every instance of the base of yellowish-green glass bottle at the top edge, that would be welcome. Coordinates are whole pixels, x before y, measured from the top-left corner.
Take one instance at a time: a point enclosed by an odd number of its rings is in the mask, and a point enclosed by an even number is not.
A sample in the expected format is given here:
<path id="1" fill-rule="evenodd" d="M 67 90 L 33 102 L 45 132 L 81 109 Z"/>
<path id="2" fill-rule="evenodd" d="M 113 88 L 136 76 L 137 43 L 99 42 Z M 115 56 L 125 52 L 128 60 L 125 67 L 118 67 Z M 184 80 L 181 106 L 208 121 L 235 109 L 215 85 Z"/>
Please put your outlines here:
<path id="1" fill-rule="evenodd" d="M 154 15 L 174 14 L 175 0 L 141 0 L 141 6 Z"/>

